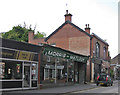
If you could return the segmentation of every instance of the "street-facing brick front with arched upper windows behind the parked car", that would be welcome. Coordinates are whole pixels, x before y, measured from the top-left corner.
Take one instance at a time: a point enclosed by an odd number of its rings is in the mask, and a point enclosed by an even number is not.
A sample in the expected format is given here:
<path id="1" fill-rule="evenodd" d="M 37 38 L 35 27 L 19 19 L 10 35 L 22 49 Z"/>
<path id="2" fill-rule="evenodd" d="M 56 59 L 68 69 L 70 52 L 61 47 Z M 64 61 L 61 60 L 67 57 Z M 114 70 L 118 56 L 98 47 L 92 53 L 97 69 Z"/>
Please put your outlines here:
<path id="1" fill-rule="evenodd" d="M 91 79 L 96 80 L 99 73 L 109 74 L 110 57 L 108 55 L 108 43 L 92 33 L 91 40 Z"/>

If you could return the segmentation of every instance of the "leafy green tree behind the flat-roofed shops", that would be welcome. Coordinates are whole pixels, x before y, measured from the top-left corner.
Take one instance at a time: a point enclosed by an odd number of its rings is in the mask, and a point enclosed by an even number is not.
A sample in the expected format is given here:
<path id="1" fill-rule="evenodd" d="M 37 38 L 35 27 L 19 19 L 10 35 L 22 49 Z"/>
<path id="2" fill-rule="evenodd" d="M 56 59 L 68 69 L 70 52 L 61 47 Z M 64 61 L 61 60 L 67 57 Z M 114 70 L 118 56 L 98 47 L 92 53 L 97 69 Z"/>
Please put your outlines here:
<path id="1" fill-rule="evenodd" d="M 29 28 L 27 28 L 25 23 L 23 26 L 17 25 L 17 26 L 14 26 L 12 28 L 12 30 L 9 30 L 8 32 L 3 33 L 2 38 L 13 39 L 16 41 L 21 41 L 21 42 L 28 42 L 28 32 L 35 31 L 35 28 L 33 30 L 31 28 L 31 25 L 29 26 Z M 40 33 L 38 31 L 37 34 L 35 34 L 35 38 L 41 38 L 41 37 L 45 37 L 45 36 L 46 36 L 46 34 L 44 32 Z"/>

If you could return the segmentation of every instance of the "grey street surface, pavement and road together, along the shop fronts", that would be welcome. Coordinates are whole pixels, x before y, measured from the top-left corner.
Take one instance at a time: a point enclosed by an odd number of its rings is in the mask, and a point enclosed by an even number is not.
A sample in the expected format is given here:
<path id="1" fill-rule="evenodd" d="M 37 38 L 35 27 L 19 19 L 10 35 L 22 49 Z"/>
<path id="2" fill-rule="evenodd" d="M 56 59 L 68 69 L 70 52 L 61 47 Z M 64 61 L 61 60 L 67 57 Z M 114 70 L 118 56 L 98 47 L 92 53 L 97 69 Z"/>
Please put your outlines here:
<path id="1" fill-rule="evenodd" d="M 120 84 L 119 84 L 120 85 Z M 113 86 L 96 86 L 91 84 L 76 84 L 73 86 L 23 90 L 23 91 L 8 91 L 2 95 L 119 95 L 118 81 L 114 81 Z"/>

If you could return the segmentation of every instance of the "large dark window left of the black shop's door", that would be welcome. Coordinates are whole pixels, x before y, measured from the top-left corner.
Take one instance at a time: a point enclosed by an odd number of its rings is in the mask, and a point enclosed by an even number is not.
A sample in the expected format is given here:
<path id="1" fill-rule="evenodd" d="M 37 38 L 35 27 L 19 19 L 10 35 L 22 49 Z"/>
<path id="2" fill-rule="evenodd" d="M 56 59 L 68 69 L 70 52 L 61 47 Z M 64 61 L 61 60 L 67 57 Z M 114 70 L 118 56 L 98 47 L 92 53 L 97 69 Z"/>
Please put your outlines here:
<path id="1" fill-rule="evenodd" d="M 22 79 L 22 62 L 2 61 L 0 79 Z"/>

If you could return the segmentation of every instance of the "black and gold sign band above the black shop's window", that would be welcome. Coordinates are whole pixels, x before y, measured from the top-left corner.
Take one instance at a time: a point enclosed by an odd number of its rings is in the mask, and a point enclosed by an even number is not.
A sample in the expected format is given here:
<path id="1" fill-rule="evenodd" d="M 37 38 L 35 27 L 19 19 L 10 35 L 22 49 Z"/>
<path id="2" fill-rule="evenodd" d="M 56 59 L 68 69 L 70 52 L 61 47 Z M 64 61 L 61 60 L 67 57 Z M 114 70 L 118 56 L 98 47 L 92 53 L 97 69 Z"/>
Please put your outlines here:
<path id="1" fill-rule="evenodd" d="M 2 58 L 9 58 L 9 59 L 17 59 L 17 60 L 28 60 L 28 61 L 37 61 L 37 54 L 25 51 L 15 51 L 15 50 L 8 50 L 2 49 L 0 51 L 0 56 Z"/>

